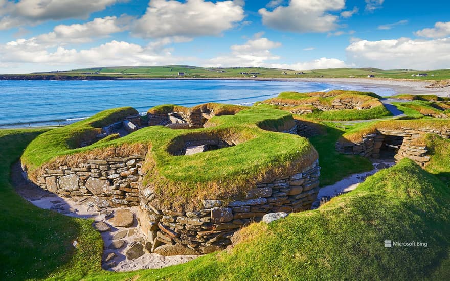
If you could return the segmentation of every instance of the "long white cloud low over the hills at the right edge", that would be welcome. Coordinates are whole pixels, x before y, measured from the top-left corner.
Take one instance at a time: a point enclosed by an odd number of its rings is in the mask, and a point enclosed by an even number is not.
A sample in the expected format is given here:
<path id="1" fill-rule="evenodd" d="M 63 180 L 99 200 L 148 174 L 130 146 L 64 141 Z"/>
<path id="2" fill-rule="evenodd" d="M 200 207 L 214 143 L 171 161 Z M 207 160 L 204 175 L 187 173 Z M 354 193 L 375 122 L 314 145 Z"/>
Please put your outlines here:
<path id="1" fill-rule="evenodd" d="M 361 67 L 442 69 L 450 65 L 450 38 L 360 40 L 351 43 L 346 52 L 348 61 Z"/>

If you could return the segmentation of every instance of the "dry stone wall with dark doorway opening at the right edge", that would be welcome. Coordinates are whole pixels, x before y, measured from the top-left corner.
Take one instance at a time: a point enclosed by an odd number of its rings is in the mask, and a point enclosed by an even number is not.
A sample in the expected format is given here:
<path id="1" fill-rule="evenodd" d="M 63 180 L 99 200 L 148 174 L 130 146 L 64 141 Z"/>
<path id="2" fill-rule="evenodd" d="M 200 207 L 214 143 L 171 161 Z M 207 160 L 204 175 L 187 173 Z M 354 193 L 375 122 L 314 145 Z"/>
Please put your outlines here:
<path id="1" fill-rule="evenodd" d="M 396 160 L 409 158 L 419 165 L 424 166 L 430 161 L 428 148 L 426 146 L 415 145 L 415 140 L 426 133 L 437 134 L 443 138 L 450 138 L 450 130 L 429 130 L 429 129 L 413 129 L 402 128 L 400 130 L 378 129 L 376 133 L 363 135 L 358 142 L 337 142 L 336 150 L 342 154 L 357 154 L 364 157 L 378 159 L 380 150 L 385 145 L 385 139 L 388 136 L 402 137 L 403 141 L 398 145 L 398 153 L 394 156 Z"/>

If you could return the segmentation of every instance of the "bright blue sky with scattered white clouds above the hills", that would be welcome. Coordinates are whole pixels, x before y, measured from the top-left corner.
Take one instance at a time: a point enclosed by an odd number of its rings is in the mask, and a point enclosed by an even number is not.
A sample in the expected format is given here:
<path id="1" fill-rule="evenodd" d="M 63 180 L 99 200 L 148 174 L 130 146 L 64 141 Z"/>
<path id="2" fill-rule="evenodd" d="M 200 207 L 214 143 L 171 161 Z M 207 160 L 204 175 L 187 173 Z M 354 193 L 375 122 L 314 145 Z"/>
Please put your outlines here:
<path id="1" fill-rule="evenodd" d="M 0 73 L 187 64 L 450 68 L 450 2 L 0 0 Z"/>

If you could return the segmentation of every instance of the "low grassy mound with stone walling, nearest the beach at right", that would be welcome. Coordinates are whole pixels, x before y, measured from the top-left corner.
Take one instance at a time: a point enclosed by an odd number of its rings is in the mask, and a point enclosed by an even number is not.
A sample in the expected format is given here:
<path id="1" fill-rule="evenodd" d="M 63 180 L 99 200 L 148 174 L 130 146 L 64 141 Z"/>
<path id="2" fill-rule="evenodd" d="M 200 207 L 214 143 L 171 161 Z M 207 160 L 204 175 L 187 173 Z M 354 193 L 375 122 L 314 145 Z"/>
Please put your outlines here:
<path id="1" fill-rule="evenodd" d="M 382 97 L 372 92 L 332 90 L 329 92 L 282 92 L 278 97 L 263 101 L 262 104 L 277 106 L 278 109 L 293 114 L 304 112 L 309 118 L 324 121 L 369 120 L 392 116 L 392 113 L 379 101 Z M 322 111 L 318 107 L 333 107 L 334 100 L 352 100 L 359 103 L 360 109 L 341 109 Z M 259 106 L 260 104 L 258 104 Z M 289 105 L 289 106 L 286 106 Z M 310 113 L 308 113 L 310 112 Z"/>

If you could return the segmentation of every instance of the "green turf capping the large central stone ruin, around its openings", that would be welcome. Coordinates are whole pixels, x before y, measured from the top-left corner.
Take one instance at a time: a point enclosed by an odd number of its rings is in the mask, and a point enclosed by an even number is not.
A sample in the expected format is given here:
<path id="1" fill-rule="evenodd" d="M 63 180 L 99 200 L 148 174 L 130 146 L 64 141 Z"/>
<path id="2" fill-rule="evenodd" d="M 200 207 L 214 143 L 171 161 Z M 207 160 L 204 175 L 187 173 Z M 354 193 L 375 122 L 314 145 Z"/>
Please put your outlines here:
<path id="1" fill-rule="evenodd" d="M 154 204 L 161 208 L 197 208 L 201 200 L 243 196 L 258 181 L 290 175 L 311 165 L 317 152 L 306 138 L 279 133 L 295 125 L 291 114 L 281 110 L 250 108 L 235 115 L 215 116 L 208 128 L 173 130 L 146 127 L 125 137 L 95 143 L 84 148 L 71 146 L 68 139 L 85 131 L 96 131 L 105 116 L 123 115 L 117 109 L 51 130 L 27 147 L 22 163 L 31 177 L 43 167 L 57 169 L 79 160 L 143 154 L 144 184 L 155 186 Z M 78 133 L 81 132 L 81 133 Z M 236 146 L 189 156 L 173 156 L 171 148 L 191 139 L 232 140 Z"/>

